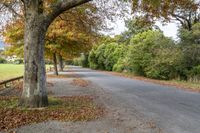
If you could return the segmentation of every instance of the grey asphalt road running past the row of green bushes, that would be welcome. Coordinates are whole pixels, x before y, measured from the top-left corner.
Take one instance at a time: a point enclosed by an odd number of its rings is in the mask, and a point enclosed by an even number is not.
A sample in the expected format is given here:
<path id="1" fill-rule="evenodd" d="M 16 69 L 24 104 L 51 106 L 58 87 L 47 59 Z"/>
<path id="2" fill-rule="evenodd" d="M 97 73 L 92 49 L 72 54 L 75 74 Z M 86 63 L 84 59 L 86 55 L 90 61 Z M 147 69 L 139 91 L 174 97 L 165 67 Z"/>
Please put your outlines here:
<path id="1" fill-rule="evenodd" d="M 71 69 L 154 120 L 164 133 L 200 133 L 199 93 L 80 67 Z"/>

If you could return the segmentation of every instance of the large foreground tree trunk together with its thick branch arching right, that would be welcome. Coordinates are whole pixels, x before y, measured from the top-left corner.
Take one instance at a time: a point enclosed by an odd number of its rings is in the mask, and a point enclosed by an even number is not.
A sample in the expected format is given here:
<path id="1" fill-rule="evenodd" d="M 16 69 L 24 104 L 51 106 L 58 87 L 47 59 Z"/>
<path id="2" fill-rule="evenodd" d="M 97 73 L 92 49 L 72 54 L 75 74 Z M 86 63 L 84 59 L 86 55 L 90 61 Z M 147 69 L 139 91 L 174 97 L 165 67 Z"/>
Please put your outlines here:
<path id="1" fill-rule="evenodd" d="M 44 107 L 48 105 L 44 62 L 45 35 L 49 25 L 64 11 L 90 0 L 62 0 L 44 13 L 44 0 L 22 0 L 25 12 L 24 83 L 19 105 Z M 57 68 L 57 66 L 55 67 Z"/>

